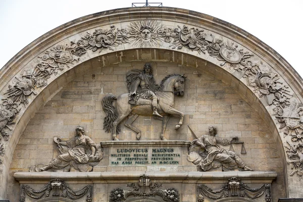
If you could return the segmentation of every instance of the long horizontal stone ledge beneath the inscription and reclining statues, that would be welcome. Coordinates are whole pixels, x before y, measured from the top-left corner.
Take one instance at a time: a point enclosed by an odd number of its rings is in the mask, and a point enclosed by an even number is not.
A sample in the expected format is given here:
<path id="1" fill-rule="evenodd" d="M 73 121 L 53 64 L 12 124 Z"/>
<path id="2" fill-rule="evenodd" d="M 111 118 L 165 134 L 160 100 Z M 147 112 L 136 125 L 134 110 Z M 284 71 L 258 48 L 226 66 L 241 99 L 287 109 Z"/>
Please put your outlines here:
<path id="1" fill-rule="evenodd" d="M 38 182 L 40 180 L 49 180 L 54 178 L 61 178 L 66 180 L 132 180 L 140 178 L 140 175 L 146 174 L 151 179 L 165 179 L 165 180 L 222 180 L 231 177 L 237 177 L 242 180 L 264 180 L 271 183 L 277 177 L 277 172 L 262 172 L 262 171 L 230 171 L 230 172 L 16 172 L 14 178 L 20 183 L 28 183 L 30 181 Z M 41 183 L 41 182 L 40 182 Z"/>

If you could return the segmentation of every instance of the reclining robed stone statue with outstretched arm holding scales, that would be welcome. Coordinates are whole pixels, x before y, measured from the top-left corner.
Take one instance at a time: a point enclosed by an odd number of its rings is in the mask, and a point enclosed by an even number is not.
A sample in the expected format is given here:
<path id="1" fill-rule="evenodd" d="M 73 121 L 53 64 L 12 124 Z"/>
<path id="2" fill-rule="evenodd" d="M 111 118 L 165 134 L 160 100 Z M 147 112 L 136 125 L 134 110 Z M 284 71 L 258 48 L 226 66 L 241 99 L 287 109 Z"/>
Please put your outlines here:
<path id="1" fill-rule="evenodd" d="M 216 137 L 216 134 L 216 127 L 211 126 L 209 128 L 209 135 L 202 135 L 198 139 L 194 139 L 190 143 L 187 160 L 199 166 L 203 171 L 218 168 L 221 164 L 229 170 L 243 168 L 244 171 L 252 171 L 234 151 L 224 149 L 220 146 L 220 144 L 230 144 L 237 137 L 228 140 Z M 200 149 L 196 149 L 197 146 Z"/>

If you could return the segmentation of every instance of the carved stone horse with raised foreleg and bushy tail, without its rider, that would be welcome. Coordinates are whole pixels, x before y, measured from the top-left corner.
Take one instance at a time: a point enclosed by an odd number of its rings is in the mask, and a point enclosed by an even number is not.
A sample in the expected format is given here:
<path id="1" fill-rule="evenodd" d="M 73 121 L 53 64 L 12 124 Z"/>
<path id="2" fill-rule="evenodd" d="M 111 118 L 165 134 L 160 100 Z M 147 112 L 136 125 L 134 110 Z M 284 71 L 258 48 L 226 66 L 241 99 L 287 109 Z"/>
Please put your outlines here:
<path id="1" fill-rule="evenodd" d="M 176 125 L 175 130 L 178 130 L 183 124 L 184 114 L 174 109 L 174 97 L 175 93 L 177 95 L 184 95 L 184 82 L 185 76 L 180 74 L 171 74 L 166 76 L 162 81 L 160 88 L 156 91 L 156 95 L 159 98 L 157 104 L 158 113 L 163 116 L 162 120 L 162 130 L 160 138 L 162 140 L 167 140 L 164 137 L 167 122 L 169 121 L 170 115 L 180 116 L 180 121 Z M 174 91 L 176 89 L 176 91 Z M 116 101 L 116 108 L 113 106 L 113 101 Z M 114 95 L 107 95 L 102 100 L 103 110 L 106 112 L 107 116 L 104 121 L 104 128 L 107 132 L 112 131 L 113 140 L 119 140 L 117 138 L 117 133 L 120 132 L 119 123 L 125 119 L 127 116 L 128 120 L 125 126 L 135 131 L 137 140 L 141 137 L 141 131 L 134 126 L 132 123 L 137 119 L 139 115 L 150 116 L 153 115 L 153 108 L 151 108 L 151 100 L 139 98 L 134 106 L 129 104 L 129 93 L 121 94 L 118 97 Z M 156 118 L 156 117 L 155 117 Z M 160 119 L 160 118 L 158 118 Z"/>

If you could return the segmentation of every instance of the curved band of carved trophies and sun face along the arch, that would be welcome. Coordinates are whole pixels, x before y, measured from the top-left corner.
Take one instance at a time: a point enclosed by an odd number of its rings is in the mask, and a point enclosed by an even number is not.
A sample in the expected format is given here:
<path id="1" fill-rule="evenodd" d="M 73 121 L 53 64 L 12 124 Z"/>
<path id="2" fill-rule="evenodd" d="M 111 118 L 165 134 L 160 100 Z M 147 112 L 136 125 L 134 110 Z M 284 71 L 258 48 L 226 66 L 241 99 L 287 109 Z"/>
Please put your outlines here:
<path id="1" fill-rule="evenodd" d="M 282 79 L 273 73 L 270 67 L 262 62 L 253 63 L 250 60 L 253 56 L 251 53 L 244 52 L 233 42 L 223 41 L 221 36 L 216 37 L 212 33 L 186 25 L 167 28 L 161 21 L 149 20 L 131 22 L 123 29 L 114 25 L 109 29 L 96 29 L 92 34 L 87 32 L 77 42 L 57 45 L 46 51 L 42 57 L 38 57 L 40 58 L 38 64 L 15 77 L 5 93 L 7 97 L 0 104 L 0 131 L 3 139 L 9 140 L 8 130 L 12 130 L 10 125 L 15 123 L 21 105 L 26 108 L 28 97 L 37 94 L 35 89 L 46 86 L 48 78 L 74 66 L 87 51 L 102 52 L 104 49 L 114 51 L 113 47 L 122 43 L 130 43 L 135 47 L 158 47 L 163 43 L 169 43 L 172 49 L 185 47 L 199 54 L 209 54 L 222 61 L 221 66 L 229 72 L 236 73 L 238 79 L 244 78 L 246 84 L 254 88 L 260 97 L 266 98 L 268 104 L 272 106 L 273 115 L 282 124 L 280 128 L 286 126 L 284 133 L 292 136 L 293 141 L 303 136 L 301 127 L 303 110 L 291 104 L 292 94 L 289 87 L 282 83 Z M 297 102 L 296 99 L 293 102 Z M 1 155 L 4 155 L 4 150 L 1 150 Z M 303 165 L 299 167 L 303 169 Z"/>

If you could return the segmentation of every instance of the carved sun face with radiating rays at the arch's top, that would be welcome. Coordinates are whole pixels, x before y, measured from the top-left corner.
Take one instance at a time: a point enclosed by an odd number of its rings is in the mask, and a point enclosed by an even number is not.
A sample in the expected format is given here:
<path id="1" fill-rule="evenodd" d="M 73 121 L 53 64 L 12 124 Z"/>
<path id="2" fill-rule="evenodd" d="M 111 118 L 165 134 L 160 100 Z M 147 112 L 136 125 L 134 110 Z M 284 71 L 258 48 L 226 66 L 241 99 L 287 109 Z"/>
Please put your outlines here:
<path id="1" fill-rule="evenodd" d="M 135 47 L 159 46 L 163 32 L 162 22 L 155 20 L 135 21 L 127 27 L 129 41 Z"/>

